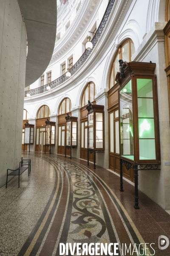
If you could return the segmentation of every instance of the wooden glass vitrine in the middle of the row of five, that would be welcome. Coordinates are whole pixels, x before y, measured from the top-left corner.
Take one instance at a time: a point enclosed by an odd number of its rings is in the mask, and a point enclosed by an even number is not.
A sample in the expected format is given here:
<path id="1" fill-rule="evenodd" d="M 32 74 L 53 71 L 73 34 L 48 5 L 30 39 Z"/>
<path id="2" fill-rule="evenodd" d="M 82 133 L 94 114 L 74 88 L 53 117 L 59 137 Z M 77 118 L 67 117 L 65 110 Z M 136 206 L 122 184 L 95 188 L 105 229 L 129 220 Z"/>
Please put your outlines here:
<path id="1" fill-rule="evenodd" d="M 77 147 L 77 117 L 69 116 L 66 119 L 66 146 Z"/>

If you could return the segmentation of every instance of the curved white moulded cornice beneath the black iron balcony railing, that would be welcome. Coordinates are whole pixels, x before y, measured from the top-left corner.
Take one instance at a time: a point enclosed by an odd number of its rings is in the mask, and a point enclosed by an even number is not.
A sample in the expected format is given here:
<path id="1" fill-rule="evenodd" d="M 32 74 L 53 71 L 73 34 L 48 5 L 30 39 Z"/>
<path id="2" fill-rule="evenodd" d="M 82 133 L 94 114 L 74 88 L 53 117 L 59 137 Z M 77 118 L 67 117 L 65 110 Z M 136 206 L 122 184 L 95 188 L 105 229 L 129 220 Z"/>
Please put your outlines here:
<path id="1" fill-rule="evenodd" d="M 25 98 L 26 103 L 31 103 L 31 102 L 37 102 L 39 99 L 47 99 L 48 96 L 49 98 L 52 98 L 54 96 L 57 96 L 59 93 L 64 93 L 67 89 L 69 90 L 71 87 L 76 87 L 76 83 L 78 81 L 81 81 L 83 78 L 87 76 L 89 71 L 92 70 L 92 68 L 96 65 L 96 63 L 99 61 L 100 58 L 104 55 L 105 52 L 110 51 L 110 44 L 113 44 L 113 38 L 116 36 L 116 31 L 119 29 L 119 27 L 122 25 L 122 20 L 124 19 L 128 7 L 132 3 L 133 0 L 119 0 L 116 1 L 115 6 L 113 7 L 111 11 L 111 15 L 108 18 L 108 22 L 105 26 L 105 29 L 102 33 L 101 38 L 99 38 L 99 41 L 96 44 L 96 51 L 91 52 L 91 55 L 88 57 L 88 59 L 85 61 L 85 63 L 82 65 L 82 67 L 77 70 L 76 73 L 74 73 L 71 78 L 63 82 L 57 87 L 54 87 L 48 92 L 40 93 L 35 96 L 31 96 L 31 98 Z M 123 4 L 124 3 L 124 4 Z M 120 7 L 121 6 L 121 7 Z M 116 11 L 118 9 L 121 9 L 119 12 L 119 15 L 116 15 Z M 115 21 L 115 22 L 114 22 Z M 109 34 L 108 38 L 106 41 L 105 38 Z M 106 55 L 105 55 L 106 56 Z M 104 57 L 105 58 L 105 57 Z"/>

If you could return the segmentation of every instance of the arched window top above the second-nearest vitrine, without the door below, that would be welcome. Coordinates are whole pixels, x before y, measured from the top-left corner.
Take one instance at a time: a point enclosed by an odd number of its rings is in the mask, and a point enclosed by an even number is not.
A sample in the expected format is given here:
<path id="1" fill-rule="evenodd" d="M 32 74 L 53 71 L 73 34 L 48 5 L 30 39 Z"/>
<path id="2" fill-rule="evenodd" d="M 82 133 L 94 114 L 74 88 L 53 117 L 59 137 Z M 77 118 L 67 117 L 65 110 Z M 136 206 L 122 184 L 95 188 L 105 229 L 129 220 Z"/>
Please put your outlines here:
<path id="1" fill-rule="evenodd" d="M 85 90 L 82 94 L 82 107 L 88 104 L 88 100 L 90 102 L 94 101 L 94 96 L 97 94 L 96 86 L 93 82 L 90 82 L 86 85 Z"/>

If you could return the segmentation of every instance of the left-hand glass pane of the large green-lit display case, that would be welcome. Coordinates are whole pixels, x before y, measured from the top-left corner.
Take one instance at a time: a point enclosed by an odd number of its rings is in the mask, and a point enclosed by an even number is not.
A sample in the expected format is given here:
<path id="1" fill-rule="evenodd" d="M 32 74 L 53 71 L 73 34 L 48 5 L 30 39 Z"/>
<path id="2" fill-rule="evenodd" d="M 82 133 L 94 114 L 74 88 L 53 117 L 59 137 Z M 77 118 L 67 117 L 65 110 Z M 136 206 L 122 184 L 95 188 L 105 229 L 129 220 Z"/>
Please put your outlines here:
<path id="1" fill-rule="evenodd" d="M 131 80 L 120 91 L 120 138 L 121 156 L 134 160 Z"/>

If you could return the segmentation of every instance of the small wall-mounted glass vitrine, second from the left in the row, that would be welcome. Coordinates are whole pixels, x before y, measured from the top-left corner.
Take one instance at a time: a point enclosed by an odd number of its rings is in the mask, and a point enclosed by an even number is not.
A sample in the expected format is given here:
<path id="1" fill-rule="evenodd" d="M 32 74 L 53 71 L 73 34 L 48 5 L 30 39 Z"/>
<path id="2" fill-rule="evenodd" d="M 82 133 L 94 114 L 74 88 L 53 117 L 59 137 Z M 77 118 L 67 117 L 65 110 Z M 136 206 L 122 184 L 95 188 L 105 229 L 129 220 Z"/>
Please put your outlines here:
<path id="1" fill-rule="evenodd" d="M 45 121 L 45 145 L 55 145 L 56 122 Z"/>

